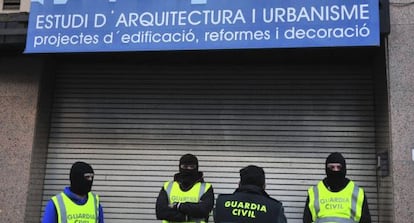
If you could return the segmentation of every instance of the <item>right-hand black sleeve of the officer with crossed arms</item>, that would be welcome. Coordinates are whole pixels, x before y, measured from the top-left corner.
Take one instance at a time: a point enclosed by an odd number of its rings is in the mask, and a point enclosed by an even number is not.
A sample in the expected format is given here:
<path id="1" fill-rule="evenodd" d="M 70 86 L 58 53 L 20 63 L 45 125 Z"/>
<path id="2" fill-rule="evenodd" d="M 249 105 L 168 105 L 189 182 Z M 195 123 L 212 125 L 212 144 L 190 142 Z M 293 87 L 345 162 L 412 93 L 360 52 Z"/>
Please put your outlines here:
<path id="1" fill-rule="evenodd" d="M 214 191 L 211 186 L 198 203 L 181 203 L 179 210 L 190 218 L 208 218 L 214 206 Z"/>

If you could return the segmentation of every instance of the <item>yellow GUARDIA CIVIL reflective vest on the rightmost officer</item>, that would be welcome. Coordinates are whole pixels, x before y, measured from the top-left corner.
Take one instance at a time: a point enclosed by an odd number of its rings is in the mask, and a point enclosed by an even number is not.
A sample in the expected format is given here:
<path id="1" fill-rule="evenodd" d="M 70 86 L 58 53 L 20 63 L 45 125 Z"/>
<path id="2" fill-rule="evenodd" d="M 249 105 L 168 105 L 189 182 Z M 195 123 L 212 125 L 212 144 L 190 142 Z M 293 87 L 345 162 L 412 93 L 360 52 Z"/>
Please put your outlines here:
<path id="1" fill-rule="evenodd" d="M 329 191 L 320 181 L 308 189 L 308 195 L 315 223 L 355 223 L 361 219 L 364 191 L 353 181 L 338 192 Z"/>

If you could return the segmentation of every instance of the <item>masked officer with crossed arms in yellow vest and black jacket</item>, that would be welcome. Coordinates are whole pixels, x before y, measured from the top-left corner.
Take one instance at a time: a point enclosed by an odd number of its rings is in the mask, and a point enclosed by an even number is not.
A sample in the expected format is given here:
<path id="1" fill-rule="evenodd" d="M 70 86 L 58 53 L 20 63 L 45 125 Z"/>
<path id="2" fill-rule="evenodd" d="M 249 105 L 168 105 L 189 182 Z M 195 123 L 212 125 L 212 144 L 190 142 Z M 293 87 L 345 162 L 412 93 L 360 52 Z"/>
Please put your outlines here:
<path id="1" fill-rule="evenodd" d="M 163 222 L 208 222 L 214 206 L 214 191 L 198 171 L 192 154 L 180 158 L 179 172 L 164 183 L 156 203 L 157 219 Z"/>

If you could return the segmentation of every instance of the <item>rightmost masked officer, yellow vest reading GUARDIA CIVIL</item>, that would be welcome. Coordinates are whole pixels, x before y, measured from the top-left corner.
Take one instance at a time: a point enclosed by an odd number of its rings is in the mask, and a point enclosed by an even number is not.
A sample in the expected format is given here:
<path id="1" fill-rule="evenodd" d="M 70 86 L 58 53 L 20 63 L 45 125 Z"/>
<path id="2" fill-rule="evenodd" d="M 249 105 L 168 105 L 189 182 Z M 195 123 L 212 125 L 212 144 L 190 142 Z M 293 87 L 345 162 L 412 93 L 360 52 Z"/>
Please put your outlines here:
<path id="1" fill-rule="evenodd" d="M 308 189 L 303 223 L 371 223 L 364 190 L 346 178 L 345 158 L 331 153 L 325 162 L 326 178 Z"/>

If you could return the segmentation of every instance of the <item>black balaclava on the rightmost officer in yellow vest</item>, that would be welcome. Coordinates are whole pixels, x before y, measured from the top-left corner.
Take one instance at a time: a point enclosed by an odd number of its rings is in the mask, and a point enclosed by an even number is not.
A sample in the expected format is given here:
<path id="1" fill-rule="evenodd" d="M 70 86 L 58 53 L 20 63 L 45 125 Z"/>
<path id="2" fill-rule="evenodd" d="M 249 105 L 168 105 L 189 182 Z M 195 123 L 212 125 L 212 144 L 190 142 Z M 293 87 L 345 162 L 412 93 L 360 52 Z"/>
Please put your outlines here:
<path id="1" fill-rule="evenodd" d="M 332 171 L 328 168 L 328 163 L 340 163 L 342 168 L 340 171 Z M 331 153 L 328 158 L 326 158 L 325 162 L 325 172 L 326 172 L 326 180 L 328 186 L 331 187 L 334 191 L 341 189 L 345 186 L 347 180 L 346 176 L 346 162 L 345 158 L 342 156 L 341 153 Z"/>

